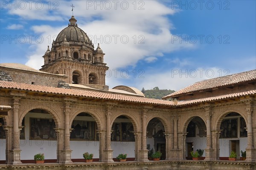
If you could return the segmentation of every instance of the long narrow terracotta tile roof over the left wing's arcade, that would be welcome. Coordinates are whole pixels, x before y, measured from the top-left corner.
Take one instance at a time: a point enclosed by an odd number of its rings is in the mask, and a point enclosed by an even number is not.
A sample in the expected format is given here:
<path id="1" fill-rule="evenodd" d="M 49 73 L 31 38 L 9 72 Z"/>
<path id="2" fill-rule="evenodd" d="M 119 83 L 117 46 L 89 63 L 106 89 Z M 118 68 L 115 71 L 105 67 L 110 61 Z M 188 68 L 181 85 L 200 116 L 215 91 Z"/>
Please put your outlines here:
<path id="1" fill-rule="evenodd" d="M 112 93 L 105 93 L 105 92 L 95 92 L 95 91 L 80 90 L 80 89 L 62 89 L 57 87 L 23 84 L 23 83 L 9 82 L 9 81 L 0 81 L 0 88 L 20 89 L 20 90 L 45 92 L 45 93 L 60 94 L 60 95 L 73 95 L 73 96 L 81 96 L 86 98 L 98 98 L 98 99 L 107 99 L 107 100 L 114 100 L 114 101 L 128 101 L 128 102 L 144 103 L 144 104 L 157 104 L 157 105 L 167 105 L 167 106 L 175 105 L 174 102 L 172 101 L 165 101 L 165 100 L 159 100 L 159 99 L 143 98 L 143 97 L 136 97 L 136 96 L 121 95 L 121 94 L 112 94 Z"/>

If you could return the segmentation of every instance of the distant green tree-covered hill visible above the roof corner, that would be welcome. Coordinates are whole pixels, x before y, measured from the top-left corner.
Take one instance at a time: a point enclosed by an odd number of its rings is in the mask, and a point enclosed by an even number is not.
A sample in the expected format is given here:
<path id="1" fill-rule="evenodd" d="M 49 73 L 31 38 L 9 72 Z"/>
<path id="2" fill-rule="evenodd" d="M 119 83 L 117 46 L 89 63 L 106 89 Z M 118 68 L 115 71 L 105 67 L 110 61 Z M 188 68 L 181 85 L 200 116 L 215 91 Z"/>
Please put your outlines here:
<path id="1" fill-rule="evenodd" d="M 151 90 L 145 90 L 144 87 L 141 90 L 141 92 L 144 93 L 146 98 L 156 98 L 156 99 L 161 99 L 166 95 L 169 95 L 173 92 L 175 92 L 174 90 L 160 90 L 158 87 L 154 87 Z"/>

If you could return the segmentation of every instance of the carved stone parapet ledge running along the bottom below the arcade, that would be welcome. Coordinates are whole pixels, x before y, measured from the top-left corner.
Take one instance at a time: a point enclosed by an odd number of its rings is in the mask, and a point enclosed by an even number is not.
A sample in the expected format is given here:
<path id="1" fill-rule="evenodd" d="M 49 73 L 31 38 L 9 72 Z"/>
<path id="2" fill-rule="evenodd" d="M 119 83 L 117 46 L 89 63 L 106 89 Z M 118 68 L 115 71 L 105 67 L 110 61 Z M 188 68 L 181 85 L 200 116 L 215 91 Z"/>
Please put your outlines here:
<path id="1" fill-rule="evenodd" d="M 150 161 L 114 163 L 73 163 L 73 164 L 22 164 L 0 165 L 0 170 L 255 170 L 255 163 L 241 161 Z"/>

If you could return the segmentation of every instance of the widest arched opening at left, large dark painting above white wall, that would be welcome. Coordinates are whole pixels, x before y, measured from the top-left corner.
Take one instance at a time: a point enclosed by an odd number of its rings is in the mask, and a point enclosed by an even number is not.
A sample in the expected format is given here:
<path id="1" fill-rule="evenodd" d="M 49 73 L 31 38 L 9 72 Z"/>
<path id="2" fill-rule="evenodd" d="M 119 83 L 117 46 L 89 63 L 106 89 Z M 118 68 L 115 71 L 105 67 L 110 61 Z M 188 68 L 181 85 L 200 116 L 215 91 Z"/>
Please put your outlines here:
<path id="1" fill-rule="evenodd" d="M 45 162 L 57 161 L 57 135 L 55 121 L 44 109 L 32 109 L 26 113 L 20 131 L 20 160 L 34 163 L 33 156 L 44 153 Z"/>

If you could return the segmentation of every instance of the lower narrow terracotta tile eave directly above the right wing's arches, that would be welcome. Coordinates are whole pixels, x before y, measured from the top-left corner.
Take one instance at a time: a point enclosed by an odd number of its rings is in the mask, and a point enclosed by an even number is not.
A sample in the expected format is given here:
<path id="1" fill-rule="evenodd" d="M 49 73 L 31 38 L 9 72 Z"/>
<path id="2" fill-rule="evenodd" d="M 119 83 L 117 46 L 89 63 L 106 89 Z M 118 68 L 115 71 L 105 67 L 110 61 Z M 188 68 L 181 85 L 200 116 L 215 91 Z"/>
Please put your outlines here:
<path id="1" fill-rule="evenodd" d="M 238 92 L 238 93 L 231 93 L 228 95 L 218 95 L 215 97 L 209 97 L 209 98 L 200 98 L 195 100 L 189 100 L 189 101 L 178 101 L 177 106 L 183 106 L 187 104 L 196 104 L 201 102 L 209 102 L 209 101 L 217 101 L 217 100 L 224 100 L 228 98 L 235 98 L 235 97 L 241 97 L 245 95 L 256 95 L 256 90 L 249 90 L 245 92 Z"/>

